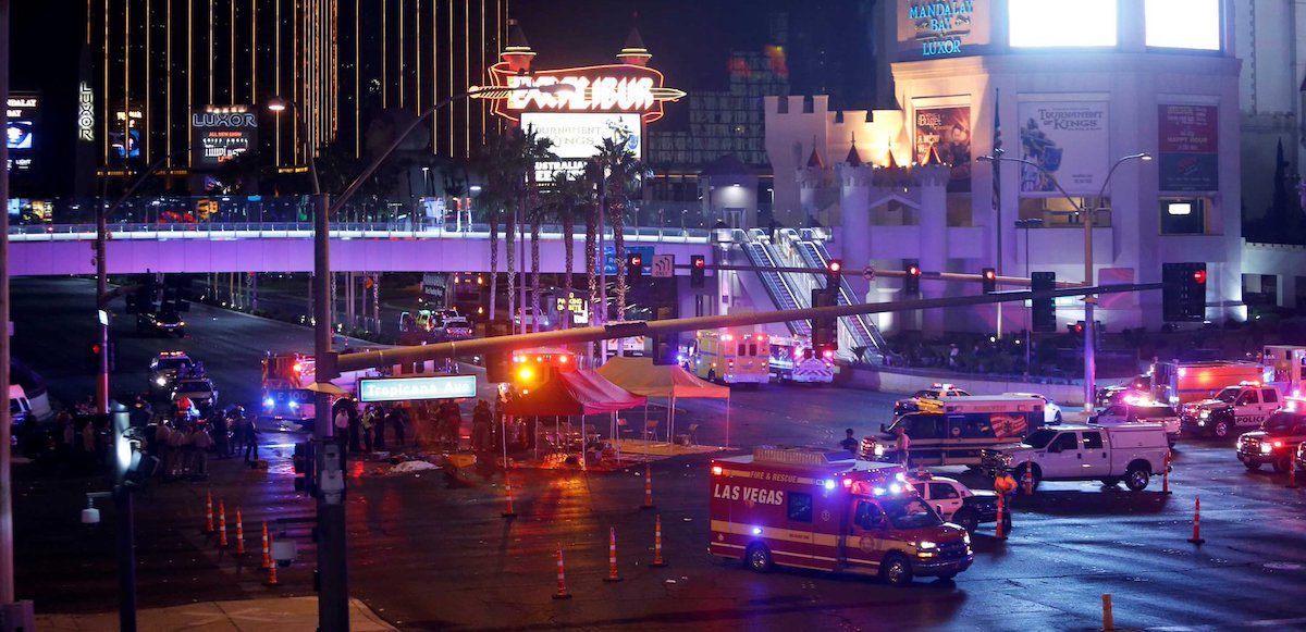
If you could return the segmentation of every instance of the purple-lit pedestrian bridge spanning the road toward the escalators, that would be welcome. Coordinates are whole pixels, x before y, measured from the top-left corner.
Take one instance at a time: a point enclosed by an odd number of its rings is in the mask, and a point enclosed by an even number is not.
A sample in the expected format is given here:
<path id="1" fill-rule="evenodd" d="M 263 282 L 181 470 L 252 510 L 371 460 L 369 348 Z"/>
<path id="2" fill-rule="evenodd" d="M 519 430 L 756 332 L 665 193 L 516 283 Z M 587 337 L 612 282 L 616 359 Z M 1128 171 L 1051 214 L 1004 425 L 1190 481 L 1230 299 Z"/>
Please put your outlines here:
<path id="1" fill-rule="evenodd" d="M 106 260 L 110 274 L 140 272 L 311 272 L 313 232 L 307 222 L 114 223 Z M 584 226 L 573 235 L 577 272 L 585 270 Z M 710 255 L 709 231 L 699 229 L 627 229 L 627 245 L 652 247 L 688 264 L 691 255 Z M 539 269 L 562 273 L 565 239 L 559 226 L 543 226 Z M 611 230 L 605 243 L 611 247 Z M 499 270 L 507 272 L 504 235 L 498 242 Z M 9 231 L 9 274 L 13 277 L 94 274 L 93 225 L 13 226 Z M 530 238 L 521 245 L 530 266 Z M 486 272 L 490 269 L 486 225 L 458 227 L 405 223 L 338 223 L 330 231 L 330 268 L 336 272 Z M 687 276 L 687 269 L 677 270 Z"/>

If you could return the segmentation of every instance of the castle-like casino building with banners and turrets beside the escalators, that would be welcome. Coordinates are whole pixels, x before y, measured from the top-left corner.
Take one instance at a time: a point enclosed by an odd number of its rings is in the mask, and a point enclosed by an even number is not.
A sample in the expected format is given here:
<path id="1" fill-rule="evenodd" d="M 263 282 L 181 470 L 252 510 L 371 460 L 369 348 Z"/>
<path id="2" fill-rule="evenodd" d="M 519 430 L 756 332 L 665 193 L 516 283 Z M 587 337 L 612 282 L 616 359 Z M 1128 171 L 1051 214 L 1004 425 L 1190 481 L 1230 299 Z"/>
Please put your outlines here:
<path id="1" fill-rule="evenodd" d="M 1204 261 L 1207 319 L 1246 316 L 1233 0 L 883 4 L 882 18 L 896 24 L 884 42 L 896 52 L 896 108 L 767 99 L 784 225 L 829 227 L 829 248 L 850 269 L 917 260 L 926 272 L 991 266 L 1079 282 L 1092 215 L 1093 282 L 1158 282 L 1164 262 Z M 978 161 L 999 149 L 1000 161 Z M 921 286 L 925 298 L 980 291 Z M 855 283 L 870 300 L 900 287 Z M 1155 330 L 1160 302 L 1158 291 L 1104 296 L 1096 320 L 1110 332 Z M 1059 328 L 1083 313 L 1080 302 L 1059 300 Z M 999 324 L 983 306 L 879 325 L 1012 332 L 1028 317 L 1008 306 Z"/>

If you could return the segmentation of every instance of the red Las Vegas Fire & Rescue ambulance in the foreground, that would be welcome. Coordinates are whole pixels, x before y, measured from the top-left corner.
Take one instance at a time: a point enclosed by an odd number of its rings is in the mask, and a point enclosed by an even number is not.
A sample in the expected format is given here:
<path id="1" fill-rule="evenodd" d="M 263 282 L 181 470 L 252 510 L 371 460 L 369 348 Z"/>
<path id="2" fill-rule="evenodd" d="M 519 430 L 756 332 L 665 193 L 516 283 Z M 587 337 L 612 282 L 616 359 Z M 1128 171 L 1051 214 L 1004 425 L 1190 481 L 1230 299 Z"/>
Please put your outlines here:
<path id="1" fill-rule="evenodd" d="M 895 586 L 970 568 L 965 529 L 947 524 L 901 465 L 815 448 L 756 448 L 716 458 L 708 552 L 776 565 L 872 575 Z"/>

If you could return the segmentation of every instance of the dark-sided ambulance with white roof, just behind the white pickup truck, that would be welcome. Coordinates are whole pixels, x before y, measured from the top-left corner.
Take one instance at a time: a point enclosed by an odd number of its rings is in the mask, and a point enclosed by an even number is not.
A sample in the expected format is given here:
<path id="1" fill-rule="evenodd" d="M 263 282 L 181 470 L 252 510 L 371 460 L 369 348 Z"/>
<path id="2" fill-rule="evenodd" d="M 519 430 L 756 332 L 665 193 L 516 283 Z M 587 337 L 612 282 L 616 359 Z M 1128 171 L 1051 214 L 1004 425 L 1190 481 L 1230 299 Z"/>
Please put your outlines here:
<path id="1" fill-rule="evenodd" d="M 921 400 L 921 410 L 880 424 L 878 435 L 862 439 L 862 458 L 902 461 L 899 428 L 906 432 L 912 466 L 980 465 L 981 449 L 1020 440 L 1043 424 L 1043 402 L 1017 396 L 955 396 Z"/>

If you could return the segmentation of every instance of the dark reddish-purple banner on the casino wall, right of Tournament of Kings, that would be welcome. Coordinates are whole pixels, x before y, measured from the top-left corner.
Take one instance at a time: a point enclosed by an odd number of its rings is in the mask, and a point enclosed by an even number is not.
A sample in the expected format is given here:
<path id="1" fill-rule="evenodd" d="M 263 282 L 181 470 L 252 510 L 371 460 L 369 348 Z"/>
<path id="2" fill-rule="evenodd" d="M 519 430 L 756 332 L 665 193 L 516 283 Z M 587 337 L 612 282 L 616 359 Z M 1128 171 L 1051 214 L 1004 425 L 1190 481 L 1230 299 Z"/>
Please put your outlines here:
<path id="1" fill-rule="evenodd" d="M 1157 106 L 1162 192 L 1220 189 L 1218 114 L 1216 106 Z"/>

